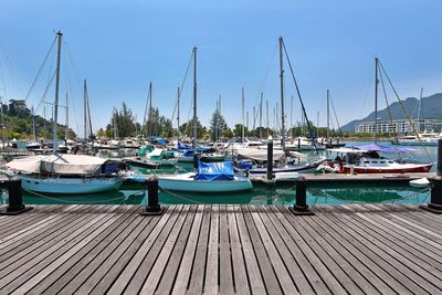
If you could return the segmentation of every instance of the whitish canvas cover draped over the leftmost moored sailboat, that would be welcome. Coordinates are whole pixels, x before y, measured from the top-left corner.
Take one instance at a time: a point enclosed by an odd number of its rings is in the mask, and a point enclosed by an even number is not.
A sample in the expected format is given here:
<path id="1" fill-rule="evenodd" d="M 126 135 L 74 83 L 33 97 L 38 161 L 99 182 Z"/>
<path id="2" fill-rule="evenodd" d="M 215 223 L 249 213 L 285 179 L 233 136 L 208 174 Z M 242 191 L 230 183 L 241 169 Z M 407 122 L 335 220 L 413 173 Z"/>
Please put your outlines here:
<path id="1" fill-rule="evenodd" d="M 6 167 L 24 173 L 95 175 L 107 161 L 86 155 L 50 155 L 14 159 Z"/>

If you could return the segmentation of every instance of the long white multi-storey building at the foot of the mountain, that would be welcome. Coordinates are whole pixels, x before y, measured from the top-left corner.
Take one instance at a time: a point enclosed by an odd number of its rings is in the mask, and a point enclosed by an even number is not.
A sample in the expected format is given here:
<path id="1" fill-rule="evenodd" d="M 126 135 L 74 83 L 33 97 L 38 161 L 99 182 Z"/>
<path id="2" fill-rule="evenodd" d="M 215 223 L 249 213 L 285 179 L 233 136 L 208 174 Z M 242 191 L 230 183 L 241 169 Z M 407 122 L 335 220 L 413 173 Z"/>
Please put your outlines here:
<path id="1" fill-rule="evenodd" d="M 396 133 L 396 134 L 408 134 L 412 133 L 412 124 L 414 128 L 419 133 L 423 133 L 424 130 L 433 130 L 435 133 L 442 131 L 442 119 L 413 119 L 411 122 L 407 119 L 394 119 L 383 120 L 378 119 L 378 133 Z M 360 122 L 355 125 L 355 133 L 367 133 L 373 134 L 375 133 L 375 122 Z"/>

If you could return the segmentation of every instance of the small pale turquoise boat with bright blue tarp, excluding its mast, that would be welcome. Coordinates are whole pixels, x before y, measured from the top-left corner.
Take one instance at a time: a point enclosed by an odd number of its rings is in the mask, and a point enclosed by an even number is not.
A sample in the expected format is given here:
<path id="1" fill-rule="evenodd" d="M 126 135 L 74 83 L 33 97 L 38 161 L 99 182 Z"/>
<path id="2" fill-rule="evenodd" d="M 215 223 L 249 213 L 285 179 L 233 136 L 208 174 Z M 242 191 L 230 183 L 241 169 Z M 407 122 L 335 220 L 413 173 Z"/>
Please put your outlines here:
<path id="1" fill-rule="evenodd" d="M 233 165 L 224 162 L 198 162 L 198 172 L 159 176 L 159 187 L 171 191 L 202 193 L 244 191 L 253 188 L 246 177 L 234 176 Z"/>

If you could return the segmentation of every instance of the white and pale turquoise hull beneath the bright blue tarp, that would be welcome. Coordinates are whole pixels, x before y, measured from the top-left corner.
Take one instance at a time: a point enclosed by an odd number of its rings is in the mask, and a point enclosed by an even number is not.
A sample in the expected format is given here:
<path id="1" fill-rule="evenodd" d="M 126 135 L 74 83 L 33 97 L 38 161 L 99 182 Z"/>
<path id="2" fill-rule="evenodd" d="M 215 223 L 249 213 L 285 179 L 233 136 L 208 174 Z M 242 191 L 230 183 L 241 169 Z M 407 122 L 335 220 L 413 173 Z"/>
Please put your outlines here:
<path id="1" fill-rule="evenodd" d="M 159 177 L 159 187 L 171 191 L 187 192 L 231 192 L 244 191 L 253 188 L 252 182 L 245 177 L 235 177 L 234 180 L 193 180 L 194 173 L 179 175 L 176 177 Z"/>

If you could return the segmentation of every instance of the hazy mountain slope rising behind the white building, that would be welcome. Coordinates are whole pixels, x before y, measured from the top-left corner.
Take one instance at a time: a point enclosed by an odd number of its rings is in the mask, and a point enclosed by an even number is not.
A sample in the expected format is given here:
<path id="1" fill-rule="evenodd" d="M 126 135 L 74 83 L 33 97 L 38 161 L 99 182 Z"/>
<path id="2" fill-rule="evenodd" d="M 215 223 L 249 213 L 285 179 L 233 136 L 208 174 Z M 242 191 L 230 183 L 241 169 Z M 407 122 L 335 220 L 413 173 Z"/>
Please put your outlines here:
<path id="1" fill-rule="evenodd" d="M 379 99 L 379 102 L 381 102 Z M 412 118 L 418 118 L 419 99 L 415 97 L 409 97 L 402 101 L 403 107 L 407 113 Z M 391 117 L 393 119 L 407 119 L 406 114 L 402 110 L 399 102 L 392 103 L 390 105 Z M 387 107 L 378 110 L 378 118 L 382 120 L 389 120 L 390 116 L 388 114 Z M 422 97 L 422 108 L 421 108 L 422 119 L 442 119 L 442 93 L 436 93 L 428 97 Z M 355 119 L 341 127 L 343 131 L 355 131 L 355 125 L 360 122 L 373 122 L 375 112 L 370 113 L 367 117 L 362 119 Z"/>

